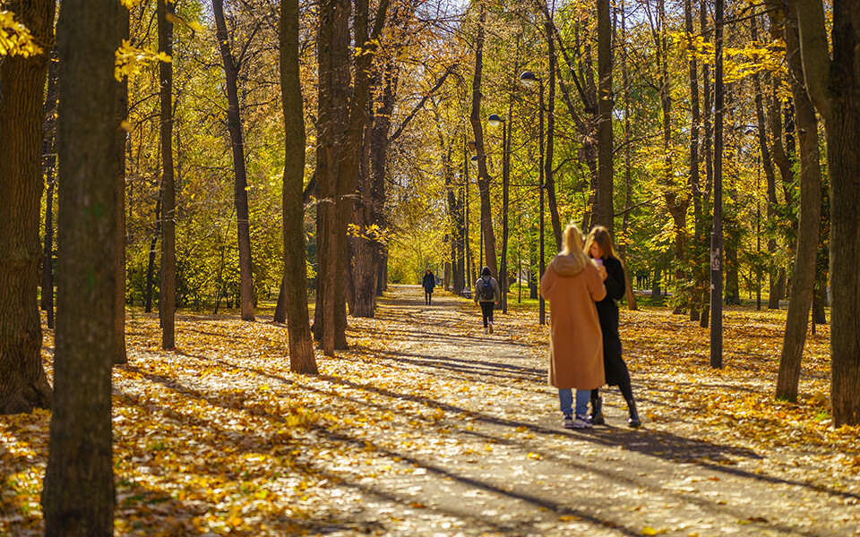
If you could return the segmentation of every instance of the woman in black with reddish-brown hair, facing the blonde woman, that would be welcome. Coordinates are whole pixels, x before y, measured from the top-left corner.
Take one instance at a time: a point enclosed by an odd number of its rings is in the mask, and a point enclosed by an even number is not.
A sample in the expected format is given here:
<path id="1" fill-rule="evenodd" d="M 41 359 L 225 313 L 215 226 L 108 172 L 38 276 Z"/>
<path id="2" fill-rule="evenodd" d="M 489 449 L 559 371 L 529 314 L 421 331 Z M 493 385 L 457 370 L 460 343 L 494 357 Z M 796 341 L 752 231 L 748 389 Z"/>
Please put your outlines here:
<path id="1" fill-rule="evenodd" d="M 598 318 L 603 332 L 603 364 L 606 370 L 606 384 L 617 386 L 627 402 L 630 417 L 627 424 L 639 427 L 642 422 L 636 412 L 636 402 L 633 400 L 633 389 L 630 383 L 630 372 L 621 352 L 621 337 L 618 336 L 618 304 L 615 301 L 624 297 L 624 286 L 627 278 L 624 276 L 624 266 L 615 255 L 612 236 L 604 226 L 595 226 L 585 242 L 585 251 L 589 257 L 606 268 L 606 297 L 598 301 Z M 591 392 L 591 422 L 603 425 L 603 401 L 599 388 Z"/>

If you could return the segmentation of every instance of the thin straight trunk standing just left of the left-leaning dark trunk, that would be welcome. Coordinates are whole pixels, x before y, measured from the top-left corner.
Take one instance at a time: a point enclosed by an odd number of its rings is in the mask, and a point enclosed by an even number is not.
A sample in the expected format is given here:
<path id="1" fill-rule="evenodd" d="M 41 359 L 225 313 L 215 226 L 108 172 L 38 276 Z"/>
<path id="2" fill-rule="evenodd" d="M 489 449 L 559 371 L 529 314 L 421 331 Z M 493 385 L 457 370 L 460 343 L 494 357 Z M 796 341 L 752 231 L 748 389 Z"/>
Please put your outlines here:
<path id="1" fill-rule="evenodd" d="M 159 52 L 173 55 L 174 4 L 158 0 Z M 173 63 L 159 62 L 161 83 L 161 181 L 164 192 L 161 200 L 161 348 L 176 346 L 176 185 L 173 175 Z"/>

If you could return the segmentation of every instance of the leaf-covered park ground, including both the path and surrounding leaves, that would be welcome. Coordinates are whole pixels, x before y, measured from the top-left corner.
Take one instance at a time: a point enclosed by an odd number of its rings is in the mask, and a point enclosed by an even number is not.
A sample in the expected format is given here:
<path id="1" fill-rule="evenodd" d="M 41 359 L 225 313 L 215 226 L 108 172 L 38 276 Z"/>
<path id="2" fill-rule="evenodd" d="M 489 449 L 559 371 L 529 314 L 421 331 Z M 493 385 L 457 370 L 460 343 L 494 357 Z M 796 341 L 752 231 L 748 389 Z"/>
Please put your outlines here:
<path id="1" fill-rule="evenodd" d="M 116 535 L 860 535 L 860 428 L 835 429 L 827 327 L 801 401 L 776 402 L 785 311 L 728 308 L 709 330 L 622 311 L 643 426 L 605 390 L 606 426 L 565 430 L 537 312 L 391 286 L 350 350 L 289 372 L 260 316 L 129 311 L 114 372 Z M 43 355 L 51 375 L 53 334 Z M 0 535 L 42 531 L 49 413 L 0 416 Z"/>

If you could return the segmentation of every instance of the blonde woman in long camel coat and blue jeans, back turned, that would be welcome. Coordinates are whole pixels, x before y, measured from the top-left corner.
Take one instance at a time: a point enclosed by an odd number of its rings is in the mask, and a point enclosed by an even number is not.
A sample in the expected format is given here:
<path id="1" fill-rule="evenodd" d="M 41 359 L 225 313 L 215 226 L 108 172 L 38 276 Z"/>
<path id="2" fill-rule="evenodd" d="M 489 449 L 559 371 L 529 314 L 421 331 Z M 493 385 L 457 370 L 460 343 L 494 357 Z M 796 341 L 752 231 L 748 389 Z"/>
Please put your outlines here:
<path id="1" fill-rule="evenodd" d="M 603 337 L 595 303 L 606 296 L 606 272 L 589 261 L 582 235 L 573 224 L 564 229 L 563 250 L 540 278 L 540 295 L 549 302 L 549 384 L 558 388 L 564 427 L 586 429 L 591 422 L 591 390 L 606 382 Z M 573 394 L 576 388 L 576 419 Z"/>

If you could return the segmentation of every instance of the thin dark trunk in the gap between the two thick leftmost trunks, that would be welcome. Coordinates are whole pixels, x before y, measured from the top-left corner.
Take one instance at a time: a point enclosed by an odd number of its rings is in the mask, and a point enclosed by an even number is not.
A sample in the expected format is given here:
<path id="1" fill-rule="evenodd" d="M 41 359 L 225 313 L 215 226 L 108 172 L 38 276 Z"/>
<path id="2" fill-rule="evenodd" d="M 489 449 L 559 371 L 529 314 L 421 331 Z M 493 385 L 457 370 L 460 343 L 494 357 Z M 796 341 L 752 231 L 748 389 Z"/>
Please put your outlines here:
<path id="1" fill-rule="evenodd" d="M 45 195 L 45 243 L 42 261 L 41 308 L 47 311 L 47 328 L 54 328 L 54 191 L 56 189 L 56 106 L 59 87 L 59 62 L 56 47 L 51 50 L 47 66 L 45 129 L 42 140 L 42 169 L 47 183 Z"/>

